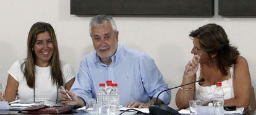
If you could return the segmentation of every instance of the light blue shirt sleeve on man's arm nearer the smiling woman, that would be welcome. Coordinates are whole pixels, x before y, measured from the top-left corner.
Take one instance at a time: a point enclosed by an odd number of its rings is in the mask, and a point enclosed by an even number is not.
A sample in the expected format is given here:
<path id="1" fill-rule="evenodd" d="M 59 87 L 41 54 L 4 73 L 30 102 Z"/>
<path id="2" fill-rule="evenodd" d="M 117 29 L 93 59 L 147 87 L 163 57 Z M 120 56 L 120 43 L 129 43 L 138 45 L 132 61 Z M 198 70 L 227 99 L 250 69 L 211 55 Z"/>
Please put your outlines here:
<path id="1" fill-rule="evenodd" d="M 75 82 L 71 87 L 71 92 L 74 92 L 77 96 L 83 100 L 92 98 L 92 80 L 88 74 L 88 67 L 85 59 L 80 63 L 79 73 L 75 78 Z"/>

